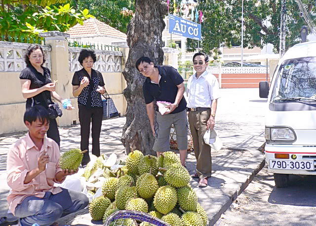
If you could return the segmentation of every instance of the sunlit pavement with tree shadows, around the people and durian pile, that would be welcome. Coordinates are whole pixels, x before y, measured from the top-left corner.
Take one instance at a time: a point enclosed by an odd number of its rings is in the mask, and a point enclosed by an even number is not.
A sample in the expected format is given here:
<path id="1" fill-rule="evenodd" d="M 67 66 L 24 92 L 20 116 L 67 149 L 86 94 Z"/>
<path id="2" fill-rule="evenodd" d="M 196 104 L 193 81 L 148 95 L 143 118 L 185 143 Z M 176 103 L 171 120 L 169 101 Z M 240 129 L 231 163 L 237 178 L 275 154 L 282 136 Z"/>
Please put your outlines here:
<path id="1" fill-rule="evenodd" d="M 259 98 L 258 89 L 222 89 L 218 102 L 215 129 L 223 141 L 219 152 L 212 152 L 213 173 L 209 187 L 197 187 L 197 179 L 191 184 L 197 192 L 199 202 L 206 210 L 209 225 L 214 225 L 220 215 L 232 203 L 238 194 L 251 182 L 255 174 L 264 165 L 264 156 L 257 151 L 264 142 L 265 99 Z M 124 147 L 120 142 L 125 118 L 103 121 L 100 144 L 102 153 L 115 152 L 119 158 L 125 158 Z M 60 128 L 61 151 L 79 147 L 80 127 Z M 5 182 L 5 163 L 8 146 L 25 133 L 0 137 L 0 216 L 6 215 L 6 196 L 8 187 Z M 91 149 L 90 149 L 91 150 Z M 195 169 L 195 157 L 188 153 L 187 166 L 190 172 Z M 91 222 L 87 211 L 68 215 L 59 221 L 59 225 L 101 225 Z"/>

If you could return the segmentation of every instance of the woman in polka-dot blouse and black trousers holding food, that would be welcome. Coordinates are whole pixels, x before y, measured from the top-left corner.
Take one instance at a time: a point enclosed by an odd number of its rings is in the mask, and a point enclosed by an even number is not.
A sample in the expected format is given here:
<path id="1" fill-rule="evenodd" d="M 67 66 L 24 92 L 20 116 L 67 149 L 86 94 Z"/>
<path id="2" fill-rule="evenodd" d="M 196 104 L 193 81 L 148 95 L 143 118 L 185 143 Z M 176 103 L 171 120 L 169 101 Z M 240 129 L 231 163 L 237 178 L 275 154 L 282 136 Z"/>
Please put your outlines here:
<path id="1" fill-rule="evenodd" d="M 96 62 L 94 51 L 83 49 L 78 61 L 83 68 L 73 77 L 73 95 L 78 97 L 80 122 L 80 149 L 89 150 L 89 133 L 92 121 L 92 154 L 100 156 L 100 132 L 103 116 L 101 94 L 105 94 L 104 80 L 101 72 L 92 69 Z M 83 154 L 81 165 L 90 161 L 89 152 Z"/>

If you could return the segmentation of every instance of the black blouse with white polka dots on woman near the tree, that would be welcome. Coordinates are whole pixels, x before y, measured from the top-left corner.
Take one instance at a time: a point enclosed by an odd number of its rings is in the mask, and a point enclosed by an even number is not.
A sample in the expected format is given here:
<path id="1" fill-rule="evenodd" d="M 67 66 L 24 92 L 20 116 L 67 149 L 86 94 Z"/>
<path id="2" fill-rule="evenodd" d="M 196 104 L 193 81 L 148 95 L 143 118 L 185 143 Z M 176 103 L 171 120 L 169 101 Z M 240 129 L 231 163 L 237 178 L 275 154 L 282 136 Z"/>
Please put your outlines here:
<path id="1" fill-rule="evenodd" d="M 73 77 L 72 85 L 80 86 L 80 82 L 83 77 L 89 79 L 89 85 L 83 88 L 78 96 L 78 105 L 84 105 L 87 107 L 103 107 L 101 94 L 97 92 L 98 86 L 104 86 L 104 80 L 101 72 L 91 69 L 91 78 L 88 72 L 82 68 L 76 71 Z"/>

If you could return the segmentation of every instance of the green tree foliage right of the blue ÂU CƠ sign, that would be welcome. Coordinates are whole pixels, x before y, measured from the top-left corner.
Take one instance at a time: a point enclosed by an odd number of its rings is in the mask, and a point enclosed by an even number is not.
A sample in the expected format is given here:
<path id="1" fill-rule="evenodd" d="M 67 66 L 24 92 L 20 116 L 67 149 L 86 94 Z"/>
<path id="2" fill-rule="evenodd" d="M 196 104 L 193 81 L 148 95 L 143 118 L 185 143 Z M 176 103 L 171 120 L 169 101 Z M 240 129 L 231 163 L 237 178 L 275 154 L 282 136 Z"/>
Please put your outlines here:
<path id="1" fill-rule="evenodd" d="M 316 18 L 315 0 L 303 0 L 313 20 Z M 296 0 L 286 1 L 286 47 L 300 42 L 300 30 L 306 25 L 300 17 Z M 208 54 L 219 53 L 219 47 L 241 45 L 241 0 L 199 0 L 202 10 L 202 41 L 200 46 Z M 244 0 L 243 47 L 272 43 L 279 49 L 280 0 Z M 189 39 L 188 49 L 195 51 L 197 41 Z"/>

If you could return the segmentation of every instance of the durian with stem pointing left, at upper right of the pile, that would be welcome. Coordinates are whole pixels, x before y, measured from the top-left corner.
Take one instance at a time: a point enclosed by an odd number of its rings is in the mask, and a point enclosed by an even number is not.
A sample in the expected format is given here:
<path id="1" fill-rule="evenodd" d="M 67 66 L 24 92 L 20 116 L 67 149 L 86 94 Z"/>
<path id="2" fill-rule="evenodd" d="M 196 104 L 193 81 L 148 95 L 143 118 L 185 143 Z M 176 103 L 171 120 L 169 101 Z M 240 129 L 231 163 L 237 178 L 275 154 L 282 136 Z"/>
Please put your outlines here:
<path id="1" fill-rule="evenodd" d="M 171 164 L 163 177 L 169 185 L 176 188 L 187 186 L 191 180 L 188 170 L 181 163 Z"/>

